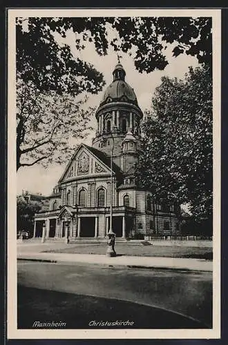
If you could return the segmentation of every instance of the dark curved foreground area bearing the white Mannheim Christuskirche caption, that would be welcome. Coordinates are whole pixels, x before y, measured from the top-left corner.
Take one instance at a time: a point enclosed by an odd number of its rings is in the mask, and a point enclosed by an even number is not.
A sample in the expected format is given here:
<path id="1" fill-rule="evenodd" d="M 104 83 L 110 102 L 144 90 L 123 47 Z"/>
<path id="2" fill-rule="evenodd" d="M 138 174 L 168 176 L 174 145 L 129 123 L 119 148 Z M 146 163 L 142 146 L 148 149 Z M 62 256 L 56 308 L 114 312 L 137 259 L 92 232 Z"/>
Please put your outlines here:
<path id="1" fill-rule="evenodd" d="M 23 286 L 18 287 L 17 316 L 18 328 L 207 328 L 194 319 L 160 308 Z M 40 322 L 40 326 L 35 326 L 35 322 Z M 46 327 L 44 322 L 60 326 Z"/>

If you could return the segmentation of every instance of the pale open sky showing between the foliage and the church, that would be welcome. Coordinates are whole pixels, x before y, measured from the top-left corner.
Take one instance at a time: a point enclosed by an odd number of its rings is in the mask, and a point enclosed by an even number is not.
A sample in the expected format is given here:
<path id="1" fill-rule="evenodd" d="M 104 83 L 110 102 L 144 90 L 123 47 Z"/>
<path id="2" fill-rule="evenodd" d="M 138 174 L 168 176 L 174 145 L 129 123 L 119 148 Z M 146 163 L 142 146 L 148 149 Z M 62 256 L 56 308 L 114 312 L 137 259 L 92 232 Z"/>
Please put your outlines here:
<path id="1" fill-rule="evenodd" d="M 112 34 L 112 32 L 110 32 Z M 56 37 L 57 41 L 61 44 L 61 39 Z M 99 106 L 99 102 L 102 99 L 102 95 L 107 86 L 113 81 L 113 69 L 117 64 L 117 54 L 113 50 L 108 50 L 108 54 L 104 57 L 100 57 L 95 52 L 93 43 L 87 43 L 86 48 L 79 52 L 74 46 L 75 34 L 68 32 L 66 35 L 66 43 L 70 45 L 71 51 L 75 57 L 79 56 L 84 61 L 88 61 L 95 66 L 99 72 L 104 75 L 106 85 L 102 92 L 97 95 L 91 95 L 88 99 L 88 106 Z M 126 71 L 126 82 L 134 89 L 137 96 L 137 101 L 144 111 L 151 106 L 151 98 L 155 88 L 160 85 L 162 76 L 177 77 L 182 79 L 184 74 L 188 71 L 189 66 L 197 67 L 198 60 L 195 57 L 187 55 L 179 55 L 178 57 L 172 57 L 172 47 L 170 46 L 166 50 L 167 59 L 169 64 L 167 67 L 160 71 L 155 70 L 149 74 L 146 72 L 139 73 L 135 69 L 133 57 L 121 52 L 121 63 Z M 95 116 L 93 116 L 92 126 L 96 128 Z M 95 132 L 91 132 L 84 141 L 84 144 L 91 144 L 91 139 L 95 136 Z M 66 164 L 52 165 L 48 168 L 44 168 L 40 165 L 21 167 L 17 172 L 17 194 L 21 194 L 22 190 L 28 190 L 30 193 L 41 193 L 42 195 L 49 195 L 53 191 L 53 187 L 57 184 L 57 181 L 64 172 Z"/>

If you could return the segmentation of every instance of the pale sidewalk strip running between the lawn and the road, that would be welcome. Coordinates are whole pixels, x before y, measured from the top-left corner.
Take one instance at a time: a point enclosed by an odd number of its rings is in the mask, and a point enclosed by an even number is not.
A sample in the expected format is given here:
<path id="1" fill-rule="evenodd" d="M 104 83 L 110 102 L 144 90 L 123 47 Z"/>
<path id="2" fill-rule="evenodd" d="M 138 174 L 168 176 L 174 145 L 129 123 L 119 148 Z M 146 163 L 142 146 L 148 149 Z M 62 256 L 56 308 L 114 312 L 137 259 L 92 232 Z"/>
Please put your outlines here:
<path id="1" fill-rule="evenodd" d="M 84 264 L 100 264 L 106 266 L 126 266 L 130 268 L 175 268 L 180 270 L 202 270 L 212 272 L 213 262 L 205 259 L 186 259 L 178 257 L 139 257 L 121 255 L 106 257 L 95 254 L 68 253 L 17 253 L 18 259 L 33 259 L 44 262 L 71 262 Z"/>

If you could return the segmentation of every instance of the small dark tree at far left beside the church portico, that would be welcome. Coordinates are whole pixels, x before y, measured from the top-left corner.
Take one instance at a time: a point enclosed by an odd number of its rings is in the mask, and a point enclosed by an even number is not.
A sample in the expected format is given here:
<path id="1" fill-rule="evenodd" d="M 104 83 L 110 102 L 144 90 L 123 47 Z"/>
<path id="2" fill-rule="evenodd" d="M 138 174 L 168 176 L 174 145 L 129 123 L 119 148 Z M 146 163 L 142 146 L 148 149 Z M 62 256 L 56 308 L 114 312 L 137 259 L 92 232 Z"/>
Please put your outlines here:
<path id="1" fill-rule="evenodd" d="M 34 215 L 41 209 L 41 204 L 26 201 L 22 196 L 17 197 L 17 232 L 28 231 L 32 237 Z"/>

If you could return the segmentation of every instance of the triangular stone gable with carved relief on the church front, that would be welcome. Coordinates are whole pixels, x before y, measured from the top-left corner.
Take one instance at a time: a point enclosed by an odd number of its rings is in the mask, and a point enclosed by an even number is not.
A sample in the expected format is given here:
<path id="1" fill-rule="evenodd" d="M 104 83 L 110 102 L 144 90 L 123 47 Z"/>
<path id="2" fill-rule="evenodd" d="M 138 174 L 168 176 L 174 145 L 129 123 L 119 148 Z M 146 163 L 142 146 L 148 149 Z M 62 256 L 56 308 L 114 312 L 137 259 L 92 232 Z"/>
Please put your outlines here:
<path id="1" fill-rule="evenodd" d="M 95 150 L 81 144 L 66 166 L 63 175 L 59 179 L 59 183 L 81 176 L 105 175 L 110 172 L 110 167 L 97 157 Z"/>

